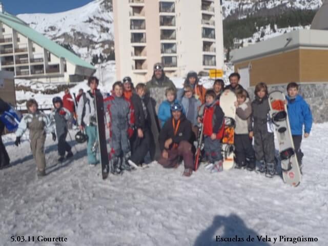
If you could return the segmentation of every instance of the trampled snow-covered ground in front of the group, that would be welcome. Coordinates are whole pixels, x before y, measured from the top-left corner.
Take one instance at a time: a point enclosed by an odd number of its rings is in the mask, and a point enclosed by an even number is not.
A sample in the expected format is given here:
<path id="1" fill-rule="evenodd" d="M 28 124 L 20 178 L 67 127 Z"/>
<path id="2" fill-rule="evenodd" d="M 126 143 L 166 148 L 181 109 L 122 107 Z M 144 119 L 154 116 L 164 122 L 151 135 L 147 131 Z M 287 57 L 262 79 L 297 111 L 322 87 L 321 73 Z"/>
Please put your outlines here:
<path id="1" fill-rule="evenodd" d="M 186 178 L 182 166 L 167 170 L 155 162 L 103 181 L 100 167 L 87 164 L 86 146 L 75 141 L 74 159 L 56 165 L 51 136 L 48 175 L 37 178 L 29 142 L 17 148 L 13 135 L 3 136 L 11 166 L 0 170 L 0 245 L 16 245 L 12 235 L 35 241 L 40 235 L 68 238 L 35 245 L 272 245 L 258 242 L 256 235 L 317 237 L 318 242 L 297 245 L 326 245 L 327 128 L 328 123 L 316 124 L 303 140 L 304 176 L 296 188 L 284 185 L 280 176 L 245 170 L 210 174 L 202 166 Z M 215 236 L 235 235 L 255 241 L 215 241 Z"/>

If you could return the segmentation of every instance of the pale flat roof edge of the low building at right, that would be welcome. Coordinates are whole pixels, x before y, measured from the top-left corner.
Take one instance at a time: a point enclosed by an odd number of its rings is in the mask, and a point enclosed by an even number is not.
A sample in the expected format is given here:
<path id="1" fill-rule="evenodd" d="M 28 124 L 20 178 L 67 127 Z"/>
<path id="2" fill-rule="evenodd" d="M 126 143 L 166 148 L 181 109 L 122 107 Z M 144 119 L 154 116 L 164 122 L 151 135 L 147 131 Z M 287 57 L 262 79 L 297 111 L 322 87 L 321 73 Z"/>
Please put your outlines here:
<path id="1" fill-rule="evenodd" d="M 245 48 L 232 50 L 231 60 L 234 64 L 278 52 L 298 48 L 328 48 L 328 31 L 296 30 L 273 37 Z"/>

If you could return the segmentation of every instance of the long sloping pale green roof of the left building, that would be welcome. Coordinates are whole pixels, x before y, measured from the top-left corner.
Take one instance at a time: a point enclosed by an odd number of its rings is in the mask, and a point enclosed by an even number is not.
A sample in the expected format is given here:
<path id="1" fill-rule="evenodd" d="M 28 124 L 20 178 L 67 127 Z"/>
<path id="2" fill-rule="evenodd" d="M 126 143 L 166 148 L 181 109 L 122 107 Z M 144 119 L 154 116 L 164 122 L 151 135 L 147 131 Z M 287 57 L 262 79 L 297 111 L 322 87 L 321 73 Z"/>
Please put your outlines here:
<path id="1" fill-rule="evenodd" d="M 44 35 L 33 30 L 25 22 L 23 22 L 23 20 L 17 18 L 16 16 L 11 15 L 7 12 L 5 13 L 0 12 L 0 22 L 3 22 L 7 26 L 15 29 L 20 34 L 31 39 L 34 43 L 49 50 L 57 57 L 63 57 L 76 66 L 95 70 L 95 68 L 91 64 L 87 63 L 85 60 L 81 59 L 80 57 L 73 54 L 69 50 L 65 49 L 64 47 L 48 39 Z"/>

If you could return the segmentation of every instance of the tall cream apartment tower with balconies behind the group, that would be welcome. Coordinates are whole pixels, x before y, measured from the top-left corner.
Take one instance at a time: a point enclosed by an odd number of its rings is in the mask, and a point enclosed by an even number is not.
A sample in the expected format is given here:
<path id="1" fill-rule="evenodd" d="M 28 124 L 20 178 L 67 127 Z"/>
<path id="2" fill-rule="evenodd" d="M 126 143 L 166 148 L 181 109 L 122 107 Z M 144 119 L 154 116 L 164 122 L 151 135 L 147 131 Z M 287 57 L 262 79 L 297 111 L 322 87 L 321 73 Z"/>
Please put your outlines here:
<path id="1" fill-rule="evenodd" d="M 223 67 L 219 0 L 113 0 L 116 77 L 145 82 L 160 61 L 169 76 Z"/>

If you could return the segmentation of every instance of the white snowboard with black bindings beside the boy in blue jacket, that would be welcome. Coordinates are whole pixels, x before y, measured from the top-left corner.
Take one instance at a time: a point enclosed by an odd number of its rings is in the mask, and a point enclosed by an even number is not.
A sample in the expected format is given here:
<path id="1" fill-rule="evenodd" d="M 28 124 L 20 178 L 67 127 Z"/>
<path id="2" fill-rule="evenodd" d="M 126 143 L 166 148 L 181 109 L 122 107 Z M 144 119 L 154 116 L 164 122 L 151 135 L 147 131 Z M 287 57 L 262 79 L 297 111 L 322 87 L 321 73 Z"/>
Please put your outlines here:
<path id="1" fill-rule="evenodd" d="M 271 92 L 269 105 L 270 117 L 279 143 L 283 180 L 291 186 L 298 186 L 301 181 L 301 172 L 295 153 L 284 94 L 281 91 Z"/>

